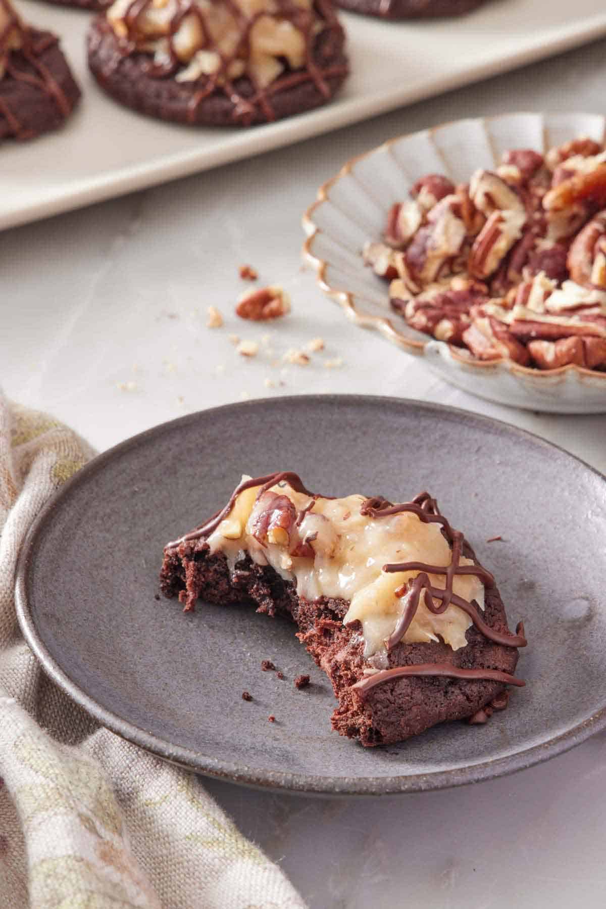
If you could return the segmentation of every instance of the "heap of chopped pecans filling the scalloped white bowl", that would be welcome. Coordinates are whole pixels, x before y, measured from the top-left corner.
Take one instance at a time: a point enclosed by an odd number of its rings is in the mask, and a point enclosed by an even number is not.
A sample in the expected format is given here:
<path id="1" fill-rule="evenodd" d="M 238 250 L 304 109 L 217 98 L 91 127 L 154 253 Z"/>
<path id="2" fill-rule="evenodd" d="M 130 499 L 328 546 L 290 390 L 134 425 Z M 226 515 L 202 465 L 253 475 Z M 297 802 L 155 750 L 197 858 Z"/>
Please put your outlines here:
<path id="1" fill-rule="evenodd" d="M 512 149 L 468 184 L 422 177 L 362 255 L 412 328 L 474 359 L 606 371 L 606 149 L 593 139 Z"/>

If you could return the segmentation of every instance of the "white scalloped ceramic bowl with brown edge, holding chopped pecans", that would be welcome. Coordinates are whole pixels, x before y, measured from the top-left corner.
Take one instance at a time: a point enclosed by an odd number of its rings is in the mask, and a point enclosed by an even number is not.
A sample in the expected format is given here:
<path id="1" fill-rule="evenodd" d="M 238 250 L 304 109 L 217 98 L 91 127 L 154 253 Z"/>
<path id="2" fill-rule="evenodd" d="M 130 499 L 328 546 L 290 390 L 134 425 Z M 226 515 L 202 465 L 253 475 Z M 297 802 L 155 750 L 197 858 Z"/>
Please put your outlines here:
<path id="1" fill-rule="evenodd" d="M 578 135 L 603 142 L 606 119 L 593 114 L 508 114 L 458 120 L 402 135 L 343 165 L 303 215 L 303 254 L 323 291 L 356 324 L 376 328 L 409 354 L 424 356 L 442 378 L 499 404 L 560 414 L 606 412 L 606 373 L 580 366 L 539 370 L 511 360 L 481 362 L 422 335 L 392 312 L 385 283 L 363 265 L 362 248 L 379 239 L 387 212 L 422 175 L 455 183 L 478 167 L 493 168 L 508 148 L 544 151 Z"/>

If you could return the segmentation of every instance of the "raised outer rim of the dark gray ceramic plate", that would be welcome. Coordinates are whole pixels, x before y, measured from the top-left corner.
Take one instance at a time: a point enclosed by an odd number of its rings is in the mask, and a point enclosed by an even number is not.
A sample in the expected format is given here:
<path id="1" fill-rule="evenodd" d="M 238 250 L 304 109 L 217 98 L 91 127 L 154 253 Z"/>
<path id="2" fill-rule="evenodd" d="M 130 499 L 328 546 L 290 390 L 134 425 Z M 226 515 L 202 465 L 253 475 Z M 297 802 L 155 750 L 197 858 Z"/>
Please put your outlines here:
<path id="1" fill-rule="evenodd" d="M 397 405 L 399 407 L 422 408 L 438 414 L 457 415 L 463 419 L 472 418 L 479 424 L 496 426 L 500 429 L 521 435 L 531 440 L 533 444 L 539 443 L 549 450 L 557 451 L 571 457 L 574 461 L 588 468 L 591 474 L 606 482 L 606 476 L 597 468 L 588 464 L 576 454 L 566 451 L 561 445 L 531 433 L 520 426 L 506 423 L 491 416 L 477 414 L 474 411 L 464 410 L 460 407 L 434 404 L 416 398 L 403 398 L 393 395 L 284 395 L 281 402 L 290 405 L 310 405 L 313 403 L 332 401 L 338 404 L 343 401 L 347 404 L 355 402 L 371 403 L 377 405 Z M 577 744 L 581 744 L 591 735 L 601 732 L 606 728 L 606 703 L 595 714 L 581 720 L 561 734 L 555 735 L 546 742 L 531 745 L 521 752 L 505 755 L 497 760 L 486 759 L 478 764 L 469 764 L 453 769 L 441 769 L 430 774 L 392 774 L 387 776 L 320 776 L 317 774 L 301 774 L 290 771 L 259 770 L 245 764 L 234 764 L 224 761 L 209 754 L 196 752 L 183 745 L 174 745 L 164 739 L 146 732 L 131 721 L 124 719 L 112 711 L 97 704 L 94 698 L 73 682 L 65 670 L 56 663 L 48 653 L 45 643 L 35 627 L 34 616 L 28 603 L 27 590 L 30 582 L 30 570 L 35 565 L 35 549 L 40 539 L 44 537 L 45 525 L 53 518 L 57 509 L 73 490 L 88 482 L 90 476 L 104 470 L 114 457 L 127 453 L 142 443 L 164 433 L 174 431 L 174 428 L 188 423 L 194 423 L 201 417 L 216 415 L 224 411 L 246 411 L 267 405 L 273 399 L 254 398 L 250 401 L 236 402 L 233 404 L 209 407 L 195 411 L 193 414 L 177 417 L 174 420 L 157 424 L 145 429 L 141 433 L 129 436 L 123 442 L 113 445 L 101 454 L 84 464 L 57 492 L 45 503 L 35 517 L 35 521 L 25 534 L 21 552 L 18 557 L 15 571 L 15 606 L 18 624 L 25 637 L 25 642 L 35 654 L 36 659 L 48 676 L 57 684 L 65 694 L 75 701 L 87 714 L 111 732 L 118 734 L 126 741 L 144 748 L 146 751 L 161 757 L 173 764 L 178 764 L 190 771 L 227 783 L 241 784 L 261 790 L 292 792 L 310 795 L 395 795 L 426 791 L 439 791 L 455 786 L 479 783 L 489 779 L 515 773 L 535 764 L 555 757 L 568 751 Z M 355 746 L 355 745 L 353 745 Z"/>

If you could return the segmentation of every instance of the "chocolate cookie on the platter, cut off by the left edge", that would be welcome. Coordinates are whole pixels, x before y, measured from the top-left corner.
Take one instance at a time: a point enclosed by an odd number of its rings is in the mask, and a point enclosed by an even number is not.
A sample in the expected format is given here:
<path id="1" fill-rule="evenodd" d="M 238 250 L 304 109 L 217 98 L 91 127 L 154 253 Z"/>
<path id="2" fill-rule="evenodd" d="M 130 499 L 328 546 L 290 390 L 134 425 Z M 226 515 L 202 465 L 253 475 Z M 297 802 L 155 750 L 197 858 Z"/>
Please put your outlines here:
<path id="1" fill-rule="evenodd" d="M 56 129 L 79 98 L 58 38 L 25 25 L 8 0 L 0 0 L 0 140 Z"/>

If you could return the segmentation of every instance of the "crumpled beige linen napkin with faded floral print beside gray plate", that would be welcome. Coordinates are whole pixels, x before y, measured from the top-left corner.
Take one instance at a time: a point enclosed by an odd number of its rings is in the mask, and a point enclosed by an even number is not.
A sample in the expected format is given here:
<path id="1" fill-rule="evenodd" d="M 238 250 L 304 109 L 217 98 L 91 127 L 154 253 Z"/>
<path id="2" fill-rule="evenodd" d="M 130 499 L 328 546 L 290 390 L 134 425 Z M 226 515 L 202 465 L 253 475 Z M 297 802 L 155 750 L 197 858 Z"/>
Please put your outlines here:
<path id="1" fill-rule="evenodd" d="M 27 529 L 92 454 L 0 391 L 0 909 L 305 909 L 197 776 L 94 724 L 19 632 Z"/>

